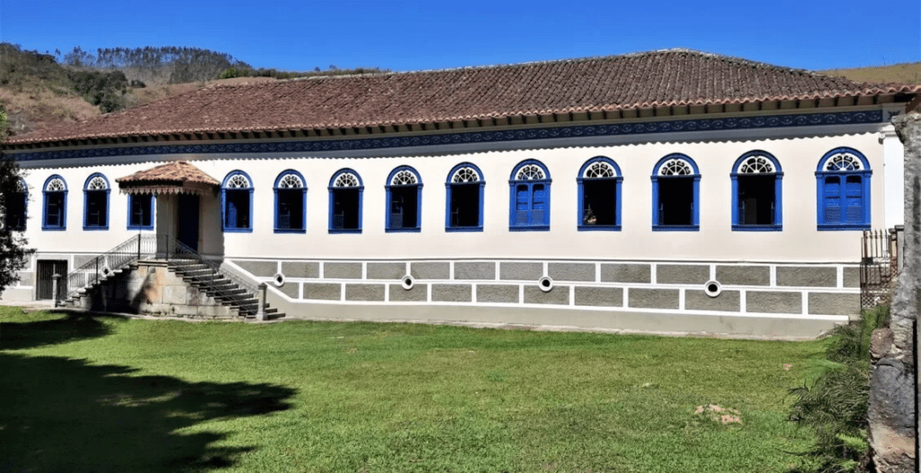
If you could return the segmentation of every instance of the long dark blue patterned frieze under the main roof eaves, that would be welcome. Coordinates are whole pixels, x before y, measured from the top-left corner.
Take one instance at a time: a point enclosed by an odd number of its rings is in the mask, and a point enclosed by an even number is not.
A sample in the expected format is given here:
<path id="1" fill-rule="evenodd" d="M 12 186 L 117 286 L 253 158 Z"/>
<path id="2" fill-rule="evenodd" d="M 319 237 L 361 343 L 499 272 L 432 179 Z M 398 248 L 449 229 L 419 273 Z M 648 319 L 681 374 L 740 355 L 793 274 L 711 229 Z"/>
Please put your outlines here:
<path id="1" fill-rule="evenodd" d="M 100 156 L 310 153 L 324 151 L 402 148 L 414 146 L 437 146 L 441 144 L 515 142 L 525 140 L 571 138 L 580 136 L 622 136 L 654 133 L 712 132 L 720 130 L 752 130 L 758 128 L 880 123 L 882 121 L 883 113 L 881 110 L 843 111 L 835 113 L 774 115 L 767 117 L 577 125 L 554 128 L 532 128 L 529 130 L 438 133 L 421 136 L 394 136 L 381 138 L 356 137 L 340 140 L 303 140 L 282 143 L 237 142 L 219 144 L 157 144 L 116 148 L 39 151 L 34 153 L 17 153 L 13 156 L 16 157 L 17 161 L 37 161 Z"/>

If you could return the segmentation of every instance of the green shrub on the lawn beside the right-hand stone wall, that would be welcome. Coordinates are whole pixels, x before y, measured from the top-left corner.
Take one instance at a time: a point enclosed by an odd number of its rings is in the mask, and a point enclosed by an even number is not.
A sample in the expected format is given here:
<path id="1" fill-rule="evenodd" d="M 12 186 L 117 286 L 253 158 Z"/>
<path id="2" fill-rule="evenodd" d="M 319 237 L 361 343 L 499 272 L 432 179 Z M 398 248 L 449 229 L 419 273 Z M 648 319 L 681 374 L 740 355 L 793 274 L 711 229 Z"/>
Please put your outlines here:
<path id="1" fill-rule="evenodd" d="M 889 307 L 879 306 L 835 328 L 803 385 L 789 390 L 796 398 L 789 420 L 815 430 L 816 443 L 805 455 L 818 461 L 818 471 L 868 471 L 869 340 L 888 318 Z"/>

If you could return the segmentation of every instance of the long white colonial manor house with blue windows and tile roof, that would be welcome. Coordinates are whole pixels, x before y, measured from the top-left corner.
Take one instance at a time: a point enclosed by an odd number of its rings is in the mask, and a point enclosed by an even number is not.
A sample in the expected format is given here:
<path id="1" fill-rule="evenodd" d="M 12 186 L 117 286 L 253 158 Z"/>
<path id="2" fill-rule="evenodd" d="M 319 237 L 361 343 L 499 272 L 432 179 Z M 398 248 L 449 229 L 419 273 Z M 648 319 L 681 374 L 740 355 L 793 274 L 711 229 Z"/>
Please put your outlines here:
<path id="1" fill-rule="evenodd" d="M 686 50 L 204 87 L 4 144 L 38 252 L 3 298 L 173 241 L 286 317 L 815 336 L 902 224 L 919 102 Z M 158 274 L 111 294 L 189 304 Z"/>

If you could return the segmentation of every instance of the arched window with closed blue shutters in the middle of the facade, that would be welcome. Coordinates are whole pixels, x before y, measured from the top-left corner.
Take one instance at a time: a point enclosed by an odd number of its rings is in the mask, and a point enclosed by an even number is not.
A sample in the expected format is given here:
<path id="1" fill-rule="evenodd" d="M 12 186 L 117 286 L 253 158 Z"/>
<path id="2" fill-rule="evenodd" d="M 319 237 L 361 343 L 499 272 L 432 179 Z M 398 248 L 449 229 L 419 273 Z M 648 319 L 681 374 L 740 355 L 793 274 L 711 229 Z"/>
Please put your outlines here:
<path id="1" fill-rule="evenodd" d="M 521 161 L 508 179 L 508 229 L 550 229 L 550 171 L 535 159 Z"/>

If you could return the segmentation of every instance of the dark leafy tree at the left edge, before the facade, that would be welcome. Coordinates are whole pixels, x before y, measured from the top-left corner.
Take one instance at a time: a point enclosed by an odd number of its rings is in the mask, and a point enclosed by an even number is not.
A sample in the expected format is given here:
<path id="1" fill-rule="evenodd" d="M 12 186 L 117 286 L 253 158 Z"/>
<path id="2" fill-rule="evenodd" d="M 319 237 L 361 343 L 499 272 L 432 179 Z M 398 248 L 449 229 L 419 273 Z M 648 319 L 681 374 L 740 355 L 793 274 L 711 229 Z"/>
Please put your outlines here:
<path id="1" fill-rule="evenodd" d="M 0 144 L 8 135 L 6 112 L 0 108 Z M 9 156 L 5 156 L 0 149 L 0 212 L 4 215 L 8 202 L 21 199 L 21 179 L 19 165 Z M 21 231 L 6 225 L 6 219 L 0 222 L 0 293 L 19 281 L 19 271 L 28 265 L 29 256 L 35 252 L 34 248 L 27 247 L 28 244 Z"/>

